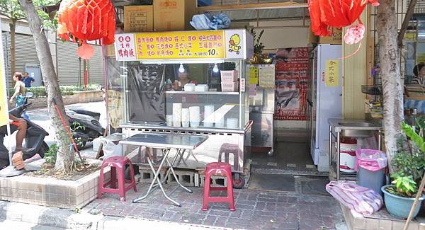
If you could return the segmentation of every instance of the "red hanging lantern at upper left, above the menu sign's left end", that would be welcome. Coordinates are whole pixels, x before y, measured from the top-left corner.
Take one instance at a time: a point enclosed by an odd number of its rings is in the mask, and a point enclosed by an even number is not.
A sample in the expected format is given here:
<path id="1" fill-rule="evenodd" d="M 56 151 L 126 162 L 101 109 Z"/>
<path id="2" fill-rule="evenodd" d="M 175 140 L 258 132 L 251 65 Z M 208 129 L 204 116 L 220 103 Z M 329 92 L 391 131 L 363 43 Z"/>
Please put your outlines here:
<path id="1" fill-rule="evenodd" d="M 82 59 L 90 59 L 94 54 L 87 41 L 113 44 L 115 10 L 110 0 L 63 0 L 57 14 L 58 36 L 78 42 L 77 53 Z"/>

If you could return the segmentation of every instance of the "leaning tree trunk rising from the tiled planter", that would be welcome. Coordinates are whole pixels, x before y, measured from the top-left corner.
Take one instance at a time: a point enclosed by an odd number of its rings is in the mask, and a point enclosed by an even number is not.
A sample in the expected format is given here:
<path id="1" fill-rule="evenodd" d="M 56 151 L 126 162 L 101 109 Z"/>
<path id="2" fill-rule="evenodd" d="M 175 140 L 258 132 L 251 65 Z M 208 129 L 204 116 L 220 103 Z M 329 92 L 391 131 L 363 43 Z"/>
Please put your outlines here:
<path id="1" fill-rule="evenodd" d="M 42 79 L 47 91 L 47 106 L 49 108 L 50 120 L 52 120 L 52 125 L 55 128 L 55 138 L 59 147 L 55 169 L 71 172 L 74 168 L 74 152 L 72 151 L 72 148 L 69 147 L 71 146 L 71 141 L 67 136 L 67 132 L 62 125 L 62 121 L 55 110 L 55 105 L 52 100 L 55 98 L 57 105 L 59 106 L 60 113 L 64 116 L 66 125 L 69 127 L 69 122 L 64 112 L 64 103 L 60 94 L 55 66 L 53 65 L 52 54 L 49 49 L 49 43 L 47 42 L 44 30 L 42 30 L 42 22 L 35 10 L 33 1 L 19 0 L 19 4 L 21 4 L 23 11 L 26 12 L 27 21 L 30 24 L 30 30 L 35 41 L 35 50 L 37 51 L 37 56 L 40 60 Z"/>

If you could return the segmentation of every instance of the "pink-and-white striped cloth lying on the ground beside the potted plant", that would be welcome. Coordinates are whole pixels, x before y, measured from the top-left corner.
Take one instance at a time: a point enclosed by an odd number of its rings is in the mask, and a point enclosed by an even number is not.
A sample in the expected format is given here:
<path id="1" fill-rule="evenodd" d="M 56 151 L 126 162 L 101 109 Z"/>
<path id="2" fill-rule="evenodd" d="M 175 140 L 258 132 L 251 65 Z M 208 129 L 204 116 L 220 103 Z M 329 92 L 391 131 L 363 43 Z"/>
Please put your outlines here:
<path id="1" fill-rule="evenodd" d="M 384 204 L 377 192 L 353 181 L 331 181 L 326 185 L 326 190 L 342 205 L 361 214 L 373 214 Z"/>

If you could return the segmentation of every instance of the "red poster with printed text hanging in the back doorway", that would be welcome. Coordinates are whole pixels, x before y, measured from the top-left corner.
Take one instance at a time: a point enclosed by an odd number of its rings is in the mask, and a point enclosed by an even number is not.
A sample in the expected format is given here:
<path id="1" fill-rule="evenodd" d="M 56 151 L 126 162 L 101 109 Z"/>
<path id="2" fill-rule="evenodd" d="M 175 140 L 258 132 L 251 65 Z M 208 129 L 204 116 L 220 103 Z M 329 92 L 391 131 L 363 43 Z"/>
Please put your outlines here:
<path id="1" fill-rule="evenodd" d="M 306 120 L 307 48 L 285 48 L 276 52 L 275 120 Z"/>

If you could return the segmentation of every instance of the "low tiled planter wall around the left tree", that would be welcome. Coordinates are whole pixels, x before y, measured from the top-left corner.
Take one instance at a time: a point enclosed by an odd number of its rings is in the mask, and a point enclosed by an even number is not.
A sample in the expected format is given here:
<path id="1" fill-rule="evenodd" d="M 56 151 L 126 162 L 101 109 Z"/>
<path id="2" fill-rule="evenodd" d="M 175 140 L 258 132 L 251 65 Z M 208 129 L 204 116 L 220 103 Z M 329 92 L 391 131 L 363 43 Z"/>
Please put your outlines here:
<path id="1" fill-rule="evenodd" d="M 96 171 L 75 181 L 33 176 L 0 178 L 0 200 L 67 209 L 81 208 L 96 199 L 99 173 Z M 110 169 L 105 168 L 103 175 L 106 181 L 109 180 Z"/>

